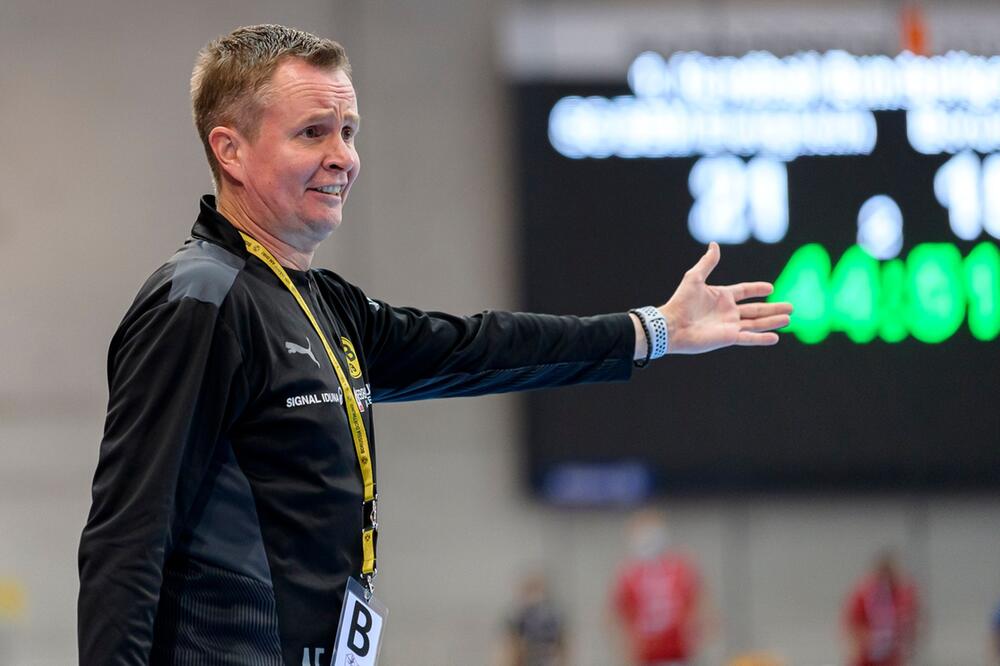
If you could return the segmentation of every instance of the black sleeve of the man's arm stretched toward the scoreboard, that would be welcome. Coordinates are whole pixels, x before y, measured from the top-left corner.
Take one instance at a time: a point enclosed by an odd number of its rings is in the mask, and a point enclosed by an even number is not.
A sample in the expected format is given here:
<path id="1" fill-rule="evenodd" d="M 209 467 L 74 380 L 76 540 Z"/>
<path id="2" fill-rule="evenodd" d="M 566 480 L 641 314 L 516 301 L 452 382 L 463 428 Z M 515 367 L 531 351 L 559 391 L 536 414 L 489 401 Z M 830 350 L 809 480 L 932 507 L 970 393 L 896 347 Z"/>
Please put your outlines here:
<path id="1" fill-rule="evenodd" d="M 458 317 L 371 299 L 364 307 L 377 402 L 621 381 L 632 372 L 635 331 L 627 314 Z"/>

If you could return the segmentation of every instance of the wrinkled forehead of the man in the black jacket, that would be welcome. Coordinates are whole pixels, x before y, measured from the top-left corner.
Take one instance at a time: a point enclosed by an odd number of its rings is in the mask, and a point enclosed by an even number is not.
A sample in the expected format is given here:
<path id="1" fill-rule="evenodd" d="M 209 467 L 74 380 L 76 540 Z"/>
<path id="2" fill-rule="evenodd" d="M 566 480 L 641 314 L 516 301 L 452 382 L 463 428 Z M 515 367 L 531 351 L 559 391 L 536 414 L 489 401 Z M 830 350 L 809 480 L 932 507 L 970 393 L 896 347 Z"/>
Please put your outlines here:
<path id="1" fill-rule="evenodd" d="M 338 112 L 358 115 L 351 79 L 341 69 L 320 69 L 295 58 L 281 63 L 271 77 L 266 114 Z"/>

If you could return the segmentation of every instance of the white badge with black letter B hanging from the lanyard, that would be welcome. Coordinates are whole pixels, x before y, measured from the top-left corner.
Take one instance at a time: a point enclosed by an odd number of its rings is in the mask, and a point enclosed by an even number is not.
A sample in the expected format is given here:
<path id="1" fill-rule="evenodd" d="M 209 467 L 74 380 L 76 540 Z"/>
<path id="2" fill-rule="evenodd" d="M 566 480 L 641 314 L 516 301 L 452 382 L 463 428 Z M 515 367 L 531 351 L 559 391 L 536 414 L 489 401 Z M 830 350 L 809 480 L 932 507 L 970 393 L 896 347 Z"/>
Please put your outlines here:
<path id="1" fill-rule="evenodd" d="M 389 609 L 374 596 L 366 598 L 361 583 L 348 578 L 330 666 L 375 666 L 388 614 Z"/>

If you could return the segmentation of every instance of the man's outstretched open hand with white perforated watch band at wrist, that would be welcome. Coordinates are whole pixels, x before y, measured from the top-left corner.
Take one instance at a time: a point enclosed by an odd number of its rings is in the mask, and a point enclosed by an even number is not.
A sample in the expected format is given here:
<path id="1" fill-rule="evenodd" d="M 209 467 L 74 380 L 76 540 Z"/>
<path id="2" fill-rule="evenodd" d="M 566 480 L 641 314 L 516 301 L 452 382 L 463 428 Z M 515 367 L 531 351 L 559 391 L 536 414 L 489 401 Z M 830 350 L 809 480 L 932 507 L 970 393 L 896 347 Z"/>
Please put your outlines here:
<path id="1" fill-rule="evenodd" d="M 778 342 L 775 329 L 787 326 L 791 303 L 743 303 L 774 291 L 769 282 L 741 282 L 713 286 L 709 275 L 719 263 L 719 246 L 710 243 L 708 251 L 681 280 L 677 290 L 660 312 L 667 320 L 670 354 L 700 354 L 731 345 L 763 346 Z M 646 357 L 646 334 L 639 318 L 635 326 L 635 358 Z"/>

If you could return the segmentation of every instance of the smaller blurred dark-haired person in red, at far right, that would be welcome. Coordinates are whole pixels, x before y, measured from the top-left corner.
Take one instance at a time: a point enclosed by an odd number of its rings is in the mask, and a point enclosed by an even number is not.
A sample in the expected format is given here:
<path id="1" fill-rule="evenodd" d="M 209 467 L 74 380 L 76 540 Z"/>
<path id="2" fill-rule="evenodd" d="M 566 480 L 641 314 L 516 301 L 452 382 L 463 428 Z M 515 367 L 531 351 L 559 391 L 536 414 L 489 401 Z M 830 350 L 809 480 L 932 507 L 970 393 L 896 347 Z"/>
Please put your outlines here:
<path id="1" fill-rule="evenodd" d="M 919 606 L 916 585 L 892 551 L 882 551 L 854 585 L 844 606 L 848 666 L 912 663 Z"/>

